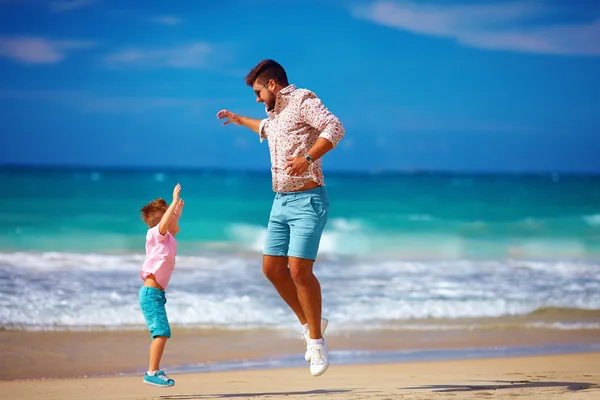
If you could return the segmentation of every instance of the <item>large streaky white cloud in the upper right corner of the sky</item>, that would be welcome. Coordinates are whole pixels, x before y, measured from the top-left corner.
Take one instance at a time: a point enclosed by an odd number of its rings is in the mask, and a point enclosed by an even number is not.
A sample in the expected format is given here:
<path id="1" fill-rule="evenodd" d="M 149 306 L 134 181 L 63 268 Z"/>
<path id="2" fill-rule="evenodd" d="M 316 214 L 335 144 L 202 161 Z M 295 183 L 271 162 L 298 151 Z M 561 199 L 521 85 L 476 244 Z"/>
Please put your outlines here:
<path id="1" fill-rule="evenodd" d="M 427 5 L 375 1 L 355 17 L 400 30 L 449 37 L 470 47 L 546 54 L 600 55 L 600 17 L 589 23 L 540 24 L 544 3 Z"/>

